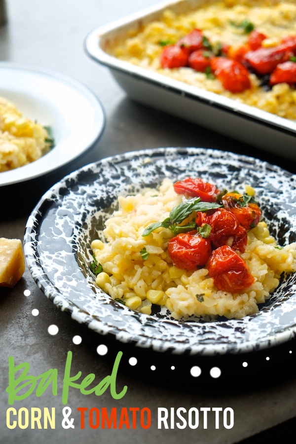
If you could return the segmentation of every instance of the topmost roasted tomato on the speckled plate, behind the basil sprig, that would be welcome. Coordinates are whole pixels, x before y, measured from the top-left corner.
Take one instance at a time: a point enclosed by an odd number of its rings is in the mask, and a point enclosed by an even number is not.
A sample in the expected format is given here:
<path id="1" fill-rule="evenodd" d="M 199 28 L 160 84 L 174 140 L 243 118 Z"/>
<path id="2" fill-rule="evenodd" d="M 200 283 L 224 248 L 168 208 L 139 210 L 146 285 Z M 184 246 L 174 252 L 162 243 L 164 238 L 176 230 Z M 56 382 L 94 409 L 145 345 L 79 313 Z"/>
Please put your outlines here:
<path id="1" fill-rule="evenodd" d="M 203 202 L 216 202 L 217 195 L 220 193 L 215 185 L 204 182 L 199 177 L 195 179 L 187 177 L 184 181 L 176 182 L 174 190 L 177 194 L 200 197 Z"/>

